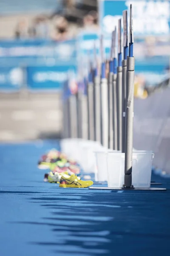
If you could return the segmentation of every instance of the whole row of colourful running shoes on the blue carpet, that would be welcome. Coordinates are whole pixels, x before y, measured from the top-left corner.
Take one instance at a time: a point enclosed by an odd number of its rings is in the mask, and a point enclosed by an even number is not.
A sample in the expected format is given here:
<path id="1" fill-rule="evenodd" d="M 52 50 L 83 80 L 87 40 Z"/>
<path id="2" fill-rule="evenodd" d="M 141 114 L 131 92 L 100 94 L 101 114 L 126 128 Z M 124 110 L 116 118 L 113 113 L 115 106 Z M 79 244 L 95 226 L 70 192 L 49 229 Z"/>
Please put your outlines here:
<path id="1" fill-rule="evenodd" d="M 44 176 L 44 181 L 49 183 L 59 183 L 59 187 L 86 188 L 93 185 L 91 180 L 81 180 L 81 168 L 74 160 L 57 151 L 50 150 L 43 155 L 38 162 L 39 169 L 49 169 L 50 172 Z"/>

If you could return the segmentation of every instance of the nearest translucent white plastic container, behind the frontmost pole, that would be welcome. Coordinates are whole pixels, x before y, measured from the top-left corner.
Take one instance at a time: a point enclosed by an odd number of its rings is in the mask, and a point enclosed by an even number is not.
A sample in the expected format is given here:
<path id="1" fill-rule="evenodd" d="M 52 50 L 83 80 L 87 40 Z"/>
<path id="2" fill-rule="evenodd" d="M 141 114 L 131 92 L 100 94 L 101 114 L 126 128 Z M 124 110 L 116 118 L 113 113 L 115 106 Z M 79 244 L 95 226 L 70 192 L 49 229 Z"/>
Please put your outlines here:
<path id="1" fill-rule="evenodd" d="M 133 151 L 132 184 L 134 187 L 150 187 L 152 160 L 151 151 Z M 124 184 L 125 153 L 107 154 L 108 187 L 121 188 Z"/>

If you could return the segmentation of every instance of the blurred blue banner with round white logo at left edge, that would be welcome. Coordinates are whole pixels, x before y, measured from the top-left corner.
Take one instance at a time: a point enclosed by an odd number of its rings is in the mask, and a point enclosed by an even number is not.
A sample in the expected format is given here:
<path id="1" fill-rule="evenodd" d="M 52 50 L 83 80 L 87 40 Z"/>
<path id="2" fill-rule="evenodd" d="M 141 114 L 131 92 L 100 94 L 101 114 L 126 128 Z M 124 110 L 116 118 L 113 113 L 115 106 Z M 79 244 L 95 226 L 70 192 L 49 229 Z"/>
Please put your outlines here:
<path id="1" fill-rule="evenodd" d="M 23 70 L 20 67 L 0 67 L 0 90 L 15 92 L 23 85 Z"/>

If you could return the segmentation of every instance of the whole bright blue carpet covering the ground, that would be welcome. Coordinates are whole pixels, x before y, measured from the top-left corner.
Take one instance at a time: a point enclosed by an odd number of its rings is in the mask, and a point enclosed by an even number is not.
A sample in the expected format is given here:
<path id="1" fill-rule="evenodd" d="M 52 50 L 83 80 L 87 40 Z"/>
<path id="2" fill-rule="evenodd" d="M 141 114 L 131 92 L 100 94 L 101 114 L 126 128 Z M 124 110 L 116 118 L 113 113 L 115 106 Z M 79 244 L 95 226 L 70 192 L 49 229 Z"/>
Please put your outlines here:
<path id="1" fill-rule="evenodd" d="M 59 188 L 37 169 L 56 145 L 0 144 L 0 256 L 169 255 L 169 179 L 152 177 L 166 192 Z"/>

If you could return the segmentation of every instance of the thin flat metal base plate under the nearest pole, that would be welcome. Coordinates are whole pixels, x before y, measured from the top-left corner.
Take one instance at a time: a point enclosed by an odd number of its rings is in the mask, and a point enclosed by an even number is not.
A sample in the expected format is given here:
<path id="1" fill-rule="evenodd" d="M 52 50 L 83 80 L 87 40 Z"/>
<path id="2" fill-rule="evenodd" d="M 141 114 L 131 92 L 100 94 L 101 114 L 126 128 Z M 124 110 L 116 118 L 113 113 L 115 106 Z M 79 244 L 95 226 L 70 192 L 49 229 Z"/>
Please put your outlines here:
<path id="1" fill-rule="evenodd" d="M 89 189 L 100 189 L 100 190 L 131 190 L 131 191 L 166 191 L 165 188 L 113 188 L 113 187 L 90 187 Z"/>

